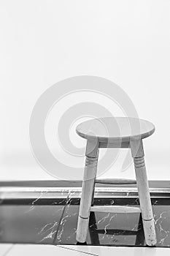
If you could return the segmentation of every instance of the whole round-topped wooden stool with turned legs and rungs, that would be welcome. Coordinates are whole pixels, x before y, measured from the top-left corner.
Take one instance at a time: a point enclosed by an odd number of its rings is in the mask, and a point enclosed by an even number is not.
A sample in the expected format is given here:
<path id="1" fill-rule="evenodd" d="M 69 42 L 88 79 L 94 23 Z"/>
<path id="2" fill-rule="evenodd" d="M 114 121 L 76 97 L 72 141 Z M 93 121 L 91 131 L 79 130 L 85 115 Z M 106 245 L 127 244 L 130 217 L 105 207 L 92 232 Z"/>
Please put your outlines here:
<path id="1" fill-rule="evenodd" d="M 139 118 L 107 117 L 85 121 L 79 124 L 76 130 L 78 135 L 87 140 L 82 195 L 77 223 L 77 241 L 80 243 L 85 243 L 86 241 L 90 211 L 121 214 L 142 212 L 145 241 L 148 246 L 154 246 L 156 244 L 155 224 L 142 145 L 142 139 L 149 137 L 155 131 L 154 125 Z M 131 148 L 136 181 L 96 179 L 99 148 Z M 132 206 L 92 206 L 95 183 L 137 183 L 140 208 Z"/>

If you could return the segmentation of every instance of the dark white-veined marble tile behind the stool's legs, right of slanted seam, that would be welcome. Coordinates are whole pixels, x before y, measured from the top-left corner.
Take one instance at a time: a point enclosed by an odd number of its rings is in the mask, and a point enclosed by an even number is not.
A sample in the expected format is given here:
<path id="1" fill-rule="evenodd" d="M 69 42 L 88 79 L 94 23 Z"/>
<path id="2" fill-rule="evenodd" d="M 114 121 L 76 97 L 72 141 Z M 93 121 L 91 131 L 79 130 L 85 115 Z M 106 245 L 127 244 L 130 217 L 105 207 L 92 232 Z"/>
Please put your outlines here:
<path id="1" fill-rule="evenodd" d="M 163 203 L 163 205 L 161 205 Z M 139 200 L 97 199 L 94 205 L 139 205 Z M 153 212 L 158 242 L 156 246 L 170 247 L 170 206 L 169 199 L 153 200 Z M 70 200 L 66 206 L 58 228 L 55 244 L 77 244 L 76 228 L 79 205 Z M 86 240 L 89 245 L 107 246 L 147 246 L 144 241 L 144 230 L 141 214 L 111 214 L 91 212 Z"/>

